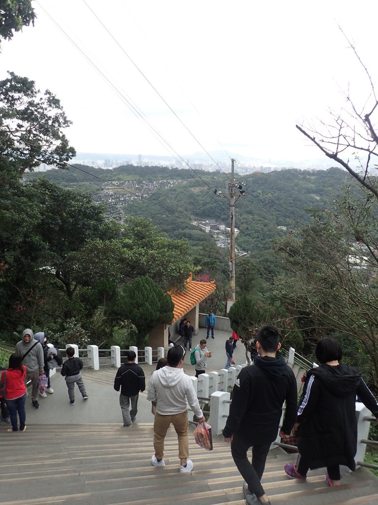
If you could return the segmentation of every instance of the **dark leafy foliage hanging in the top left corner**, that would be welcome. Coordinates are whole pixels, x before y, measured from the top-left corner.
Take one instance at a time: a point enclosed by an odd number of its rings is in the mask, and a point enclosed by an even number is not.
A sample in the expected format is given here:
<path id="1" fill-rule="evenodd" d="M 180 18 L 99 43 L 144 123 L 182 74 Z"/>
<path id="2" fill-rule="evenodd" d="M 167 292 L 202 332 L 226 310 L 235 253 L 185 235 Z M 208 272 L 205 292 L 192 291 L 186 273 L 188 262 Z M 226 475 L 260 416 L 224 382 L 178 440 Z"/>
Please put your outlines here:
<path id="1" fill-rule="evenodd" d="M 0 0 L 0 39 L 11 40 L 13 32 L 30 23 L 34 26 L 35 18 L 31 0 Z"/>

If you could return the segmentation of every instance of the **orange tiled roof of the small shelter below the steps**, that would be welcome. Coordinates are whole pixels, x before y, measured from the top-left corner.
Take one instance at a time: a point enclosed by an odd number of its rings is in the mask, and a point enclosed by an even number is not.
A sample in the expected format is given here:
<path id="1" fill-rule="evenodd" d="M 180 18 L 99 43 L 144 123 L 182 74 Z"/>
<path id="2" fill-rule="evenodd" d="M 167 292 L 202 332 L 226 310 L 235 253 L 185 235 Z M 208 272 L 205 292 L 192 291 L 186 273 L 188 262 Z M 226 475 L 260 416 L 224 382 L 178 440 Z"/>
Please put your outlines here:
<path id="1" fill-rule="evenodd" d="M 182 293 L 169 293 L 174 303 L 172 323 L 184 316 L 216 289 L 215 281 L 197 282 L 193 280 L 192 274 L 187 279 L 185 287 L 186 289 Z"/>

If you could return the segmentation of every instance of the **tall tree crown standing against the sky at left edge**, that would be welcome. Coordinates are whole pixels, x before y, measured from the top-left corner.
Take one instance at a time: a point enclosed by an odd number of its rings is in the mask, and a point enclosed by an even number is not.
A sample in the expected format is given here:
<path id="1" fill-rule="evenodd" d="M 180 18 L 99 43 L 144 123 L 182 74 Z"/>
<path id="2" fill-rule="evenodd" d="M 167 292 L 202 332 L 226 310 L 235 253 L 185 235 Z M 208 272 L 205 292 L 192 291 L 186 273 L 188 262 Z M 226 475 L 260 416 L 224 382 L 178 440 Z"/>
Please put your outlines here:
<path id="1" fill-rule="evenodd" d="M 59 100 L 48 89 L 42 94 L 27 77 L 8 73 L 0 81 L 0 157 L 20 176 L 41 163 L 67 168 L 76 151 L 63 133 L 71 121 Z"/>

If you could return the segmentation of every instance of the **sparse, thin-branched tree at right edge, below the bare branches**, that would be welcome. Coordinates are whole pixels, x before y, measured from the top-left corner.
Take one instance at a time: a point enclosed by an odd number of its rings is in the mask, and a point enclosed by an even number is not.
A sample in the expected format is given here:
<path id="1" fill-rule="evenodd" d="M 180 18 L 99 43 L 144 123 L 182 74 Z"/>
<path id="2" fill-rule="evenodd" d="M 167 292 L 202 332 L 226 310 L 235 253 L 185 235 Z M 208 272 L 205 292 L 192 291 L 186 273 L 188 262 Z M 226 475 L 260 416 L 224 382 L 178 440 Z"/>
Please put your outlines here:
<path id="1" fill-rule="evenodd" d="M 292 318 L 311 321 L 319 336 L 353 337 L 355 347 L 371 359 L 375 385 L 377 225 L 375 196 L 368 189 L 357 196 L 348 189 L 334 201 L 333 211 L 314 212 L 312 225 L 276 244 L 285 274 L 277 279 L 275 293 Z"/>

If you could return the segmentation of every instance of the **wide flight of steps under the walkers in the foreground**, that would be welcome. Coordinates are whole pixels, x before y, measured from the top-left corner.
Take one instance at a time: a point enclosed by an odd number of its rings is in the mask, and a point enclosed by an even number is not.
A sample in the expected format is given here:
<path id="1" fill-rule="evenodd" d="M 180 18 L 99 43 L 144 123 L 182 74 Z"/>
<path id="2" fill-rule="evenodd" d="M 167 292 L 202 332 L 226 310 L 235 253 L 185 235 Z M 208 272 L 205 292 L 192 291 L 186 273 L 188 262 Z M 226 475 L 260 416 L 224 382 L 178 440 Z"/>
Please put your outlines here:
<path id="1" fill-rule="evenodd" d="M 101 405 L 98 405 L 101 409 Z M 28 425 L 25 433 L 0 430 L 0 503 L 2 505 L 242 505 L 242 478 L 230 447 L 215 437 L 208 452 L 194 442 L 194 470 L 178 472 L 176 434 L 165 443 L 164 468 L 151 465 L 153 427 L 135 424 Z M 295 455 L 294 455 L 295 458 Z M 366 469 L 342 473 L 342 486 L 329 488 L 324 472 L 306 482 L 289 479 L 283 465 L 293 461 L 272 449 L 263 485 L 272 505 L 376 505 L 378 479 Z"/>

